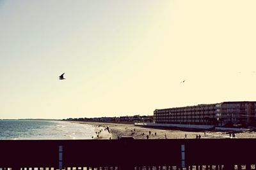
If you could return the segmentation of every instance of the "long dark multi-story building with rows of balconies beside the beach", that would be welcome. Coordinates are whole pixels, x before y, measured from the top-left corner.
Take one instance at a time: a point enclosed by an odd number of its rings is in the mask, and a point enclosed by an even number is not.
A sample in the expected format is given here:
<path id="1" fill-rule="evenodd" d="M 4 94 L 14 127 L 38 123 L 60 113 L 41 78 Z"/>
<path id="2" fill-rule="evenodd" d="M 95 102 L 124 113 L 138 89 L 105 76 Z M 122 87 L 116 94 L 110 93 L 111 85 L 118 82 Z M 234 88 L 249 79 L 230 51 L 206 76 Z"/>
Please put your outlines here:
<path id="1" fill-rule="evenodd" d="M 198 104 L 154 111 L 157 124 L 256 125 L 256 101 Z"/>

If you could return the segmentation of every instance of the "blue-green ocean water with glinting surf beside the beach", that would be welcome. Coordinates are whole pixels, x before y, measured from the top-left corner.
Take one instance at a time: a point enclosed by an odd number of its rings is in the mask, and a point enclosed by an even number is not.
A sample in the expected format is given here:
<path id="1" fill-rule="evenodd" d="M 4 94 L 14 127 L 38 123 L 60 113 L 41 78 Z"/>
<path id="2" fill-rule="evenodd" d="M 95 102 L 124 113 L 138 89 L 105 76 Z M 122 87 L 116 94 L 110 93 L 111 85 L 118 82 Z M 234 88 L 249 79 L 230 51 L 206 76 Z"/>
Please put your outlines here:
<path id="1" fill-rule="evenodd" d="M 48 120 L 0 120 L 0 139 L 92 139 L 94 127 Z"/>

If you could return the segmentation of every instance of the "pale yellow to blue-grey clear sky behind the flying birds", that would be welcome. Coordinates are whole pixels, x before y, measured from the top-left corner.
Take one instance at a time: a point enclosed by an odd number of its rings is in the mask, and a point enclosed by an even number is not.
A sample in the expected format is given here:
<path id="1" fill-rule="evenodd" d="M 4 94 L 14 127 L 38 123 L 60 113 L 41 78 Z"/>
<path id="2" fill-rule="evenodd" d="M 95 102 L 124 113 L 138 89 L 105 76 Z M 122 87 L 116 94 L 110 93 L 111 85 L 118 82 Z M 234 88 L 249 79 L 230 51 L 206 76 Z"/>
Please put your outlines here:
<path id="1" fill-rule="evenodd" d="M 0 0 L 0 118 L 256 101 L 255 9 L 254 0 Z"/>

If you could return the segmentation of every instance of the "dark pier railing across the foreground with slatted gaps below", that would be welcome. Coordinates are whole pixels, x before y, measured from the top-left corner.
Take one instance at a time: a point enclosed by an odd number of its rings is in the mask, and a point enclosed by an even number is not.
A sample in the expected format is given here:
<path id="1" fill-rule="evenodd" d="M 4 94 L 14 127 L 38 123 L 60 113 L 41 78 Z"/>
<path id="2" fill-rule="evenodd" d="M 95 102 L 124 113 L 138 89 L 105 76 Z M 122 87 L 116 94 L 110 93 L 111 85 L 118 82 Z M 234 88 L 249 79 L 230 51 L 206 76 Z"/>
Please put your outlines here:
<path id="1" fill-rule="evenodd" d="M 6 169 L 255 169 L 256 139 L 1 140 Z"/>

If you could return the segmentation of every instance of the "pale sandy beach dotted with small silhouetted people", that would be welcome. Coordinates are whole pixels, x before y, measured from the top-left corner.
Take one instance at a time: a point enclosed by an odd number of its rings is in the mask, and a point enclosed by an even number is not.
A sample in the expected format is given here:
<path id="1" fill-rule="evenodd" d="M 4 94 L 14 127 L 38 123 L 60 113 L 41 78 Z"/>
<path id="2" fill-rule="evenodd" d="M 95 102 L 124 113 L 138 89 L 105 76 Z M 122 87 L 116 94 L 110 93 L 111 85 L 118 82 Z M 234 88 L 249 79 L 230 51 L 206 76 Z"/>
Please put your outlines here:
<path id="1" fill-rule="evenodd" d="M 154 129 L 135 126 L 133 124 L 111 124 L 102 122 L 74 122 L 78 124 L 89 124 L 95 127 L 95 136 L 93 139 L 118 139 L 122 136 L 132 136 L 134 139 L 195 139 L 196 135 L 205 138 L 230 138 L 230 132 L 216 131 L 178 131 L 170 129 Z M 106 129 L 108 128 L 108 129 Z M 97 136 L 99 135 L 99 136 Z M 256 132 L 235 132 L 235 138 L 256 138 Z"/>

